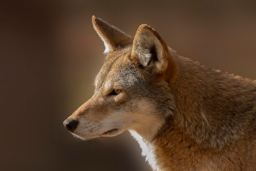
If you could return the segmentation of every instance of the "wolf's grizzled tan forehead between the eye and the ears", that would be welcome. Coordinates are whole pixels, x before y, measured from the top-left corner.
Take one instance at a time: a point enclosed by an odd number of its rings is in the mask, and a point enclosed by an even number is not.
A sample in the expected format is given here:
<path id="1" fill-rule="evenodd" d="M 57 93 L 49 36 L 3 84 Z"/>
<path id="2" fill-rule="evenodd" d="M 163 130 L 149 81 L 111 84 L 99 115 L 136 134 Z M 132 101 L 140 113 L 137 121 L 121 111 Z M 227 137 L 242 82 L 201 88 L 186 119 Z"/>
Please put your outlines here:
<path id="1" fill-rule="evenodd" d="M 119 53 L 110 53 L 106 57 L 101 70 L 94 79 L 96 89 L 106 84 L 111 87 L 116 85 L 120 88 L 123 86 L 131 88 L 143 80 L 138 66 L 130 60 L 130 53 L 131 47 L 127 47 L 119 50 Z"/>

